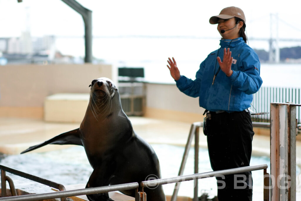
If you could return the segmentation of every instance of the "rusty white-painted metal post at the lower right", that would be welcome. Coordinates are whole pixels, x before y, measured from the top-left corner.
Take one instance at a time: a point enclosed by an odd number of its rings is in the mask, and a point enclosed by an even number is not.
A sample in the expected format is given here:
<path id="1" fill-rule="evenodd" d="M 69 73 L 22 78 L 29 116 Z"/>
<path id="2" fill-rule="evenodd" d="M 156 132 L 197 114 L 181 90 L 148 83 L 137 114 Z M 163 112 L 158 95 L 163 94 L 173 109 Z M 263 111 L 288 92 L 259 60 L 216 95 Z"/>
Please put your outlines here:
<path id="1" fill-rule="evenodd" d="M 271 201 L 296 201 L 296 106 L 271 103 Z"/>

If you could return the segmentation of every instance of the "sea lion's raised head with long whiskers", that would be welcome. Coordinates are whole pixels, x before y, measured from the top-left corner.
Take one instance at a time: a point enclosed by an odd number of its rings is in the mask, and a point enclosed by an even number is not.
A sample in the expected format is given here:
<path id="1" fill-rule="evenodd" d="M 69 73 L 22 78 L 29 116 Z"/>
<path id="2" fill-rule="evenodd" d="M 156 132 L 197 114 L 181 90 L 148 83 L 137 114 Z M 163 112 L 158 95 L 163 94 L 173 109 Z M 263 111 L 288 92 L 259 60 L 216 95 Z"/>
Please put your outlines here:
<path id="1" fill-rule="evenodd" d="M 113 81 L 107 77 L 100 77 L 92 80 L 89 87 L 91 87 L 89 105 L 95 118 L 110 114 L 112 99 L 117 91 Z"/>

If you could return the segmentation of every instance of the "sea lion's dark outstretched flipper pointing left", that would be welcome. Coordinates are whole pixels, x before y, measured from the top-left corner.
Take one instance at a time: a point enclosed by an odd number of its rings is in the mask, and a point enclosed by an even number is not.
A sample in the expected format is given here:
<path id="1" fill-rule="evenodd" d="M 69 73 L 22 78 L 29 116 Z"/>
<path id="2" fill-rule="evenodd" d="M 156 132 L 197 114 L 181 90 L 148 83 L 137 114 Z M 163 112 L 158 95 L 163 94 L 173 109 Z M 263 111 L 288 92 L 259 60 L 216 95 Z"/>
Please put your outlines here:
<path id="1" fill-rule="evenodd" d="M 79 128 L 77 128 L 75 130 L 70 130 L 66 133 L 62 133 L 60 135 L 57 135 L 54 138 L 51 138 L 50 140 L 47 140 L 47 141 L 45 141 L 41 144 L 31 146 L 28 149 L 26 149 L 25 151 L 21 152 L 21 154 L 32 151 L 34 149 L 38 149 L 38 148 L 40 148 L 42 146 L 45 146 L 47 144 L 60 144 L 60 145 L 74 144 L 74 145 L 83 146 L 82 140 L 80 139 L 80 131 L 79 131 Z"/>

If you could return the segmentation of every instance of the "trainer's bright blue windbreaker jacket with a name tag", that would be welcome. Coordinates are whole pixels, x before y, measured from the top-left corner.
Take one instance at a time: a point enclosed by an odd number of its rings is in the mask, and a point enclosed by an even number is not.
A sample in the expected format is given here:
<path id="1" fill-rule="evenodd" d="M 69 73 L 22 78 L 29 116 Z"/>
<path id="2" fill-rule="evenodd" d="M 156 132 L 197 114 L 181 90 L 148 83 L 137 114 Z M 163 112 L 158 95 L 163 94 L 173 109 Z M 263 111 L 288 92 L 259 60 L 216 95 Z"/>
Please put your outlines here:
<path id="1" fill-rule="evenodd" d="M 252 94 L 256 93 L 262 84 L 259 58 L 242 37 L 233 40 L 222 39 L 220 46 L 220 49 L 211 52 L 200 64 L 195 80 L 181 75 L 176 85 L 188 96 L 199 96 L 200 107 L 209 111 L 243 111 L 250 107 Z M 233 57 L 233 74 L 227 77 L 220 70 L 212 84 L 219 68 L 216 58 L 219 56 L 222 59 L 224 48 L 228 47 Z"/>

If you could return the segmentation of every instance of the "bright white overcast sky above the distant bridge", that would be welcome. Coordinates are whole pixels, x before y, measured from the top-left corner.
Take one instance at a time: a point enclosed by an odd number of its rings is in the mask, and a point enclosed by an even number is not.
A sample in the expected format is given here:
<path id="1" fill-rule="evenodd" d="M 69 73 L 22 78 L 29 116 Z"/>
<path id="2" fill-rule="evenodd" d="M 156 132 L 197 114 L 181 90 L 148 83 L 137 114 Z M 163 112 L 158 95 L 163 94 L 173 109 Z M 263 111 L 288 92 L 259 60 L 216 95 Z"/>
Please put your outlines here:
<path id="1" fill-rule="evenodd" d="M 222 8 L 237 6 L 246 15 L 249 38 L 269 38 L 270 14 L 278 13 L 279 37 L 301 39 L 299 0 L 241 0 L 235 4 L 221 0 L 78 0 L 78 2 L 92 10 L 93 36 L 158 35 L 219 39 L 216 25 L 209 24 L 209 18 L 219 14 Z M 23 0 L 22 3 L 18 3 L 17 0 L 0 0 L 0 19 L 0 37 L 18 37 L 26 29 L 30 29 L 32 36 L 84 35 L 82 17 L 61 0 Z M 272 33 L 276 35 L 277 31 Z M 267 49 L 267 44 L 262 41 L 250 41 L 253 48 Z M 280 46 L 297 45 L 301 45 L 301 42 L 280 44 Z M 213 49 L 217 49 L 217 46 L 218 42 Z"/>

